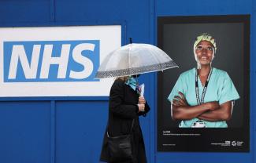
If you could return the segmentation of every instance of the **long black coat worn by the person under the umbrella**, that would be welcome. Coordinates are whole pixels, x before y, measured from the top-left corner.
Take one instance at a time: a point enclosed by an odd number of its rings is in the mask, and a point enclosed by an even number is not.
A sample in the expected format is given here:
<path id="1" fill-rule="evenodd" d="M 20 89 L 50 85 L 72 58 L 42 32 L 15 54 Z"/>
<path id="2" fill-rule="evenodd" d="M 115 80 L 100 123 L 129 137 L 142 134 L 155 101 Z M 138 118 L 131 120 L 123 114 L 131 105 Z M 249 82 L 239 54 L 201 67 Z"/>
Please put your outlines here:
<path id="1" fill-rule="evenodd" d="M 139 125 L 139 115 L 146 116 L 150 107 L 146 103 L 145 111 L 138 113 L 139 95 L 121 79 L 117 79 L 109 95 L 109 136 L 121 136 L 128 134 L 132 127 L 132 119 L 135 119 L 132 129 L 132 155 L 134 160 L 125 161 L 131 163 L 146 163 L 146 152 L 143 134 Z M 102 143 L 100 161 L 109 160 L 106 132 Z M 120 163 L 120 162 L 119 162 Z"/>

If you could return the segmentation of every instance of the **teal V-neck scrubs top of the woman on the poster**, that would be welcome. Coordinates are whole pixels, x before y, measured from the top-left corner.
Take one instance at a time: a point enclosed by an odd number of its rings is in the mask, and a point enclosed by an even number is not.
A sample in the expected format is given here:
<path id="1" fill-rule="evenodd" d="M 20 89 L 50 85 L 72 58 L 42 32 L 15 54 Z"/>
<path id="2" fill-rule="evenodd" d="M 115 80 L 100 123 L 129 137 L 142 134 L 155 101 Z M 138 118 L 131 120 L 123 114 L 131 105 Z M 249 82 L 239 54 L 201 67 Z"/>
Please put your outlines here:
<path id="1" fill-rule="evenodd" d="M 180 74 L 176 84 L 173 87 L 172 92 L 169 94 L 168 100 L 173 103 L 174 96 L 179 96 L 178 92 L 182 92 L 190 106 L 198 105 L 195 96 L 195 71 L 193 68 L 189 71 L 185 71 Z M 199 98 L 202 97 L 202 83 L 198 78 L 198 92 Z M 213 68 L 210 81 L 207 86 L 206 95 L 204 103 L 218 101 L 221 105 L 222 103 L 239 99 L 239 94 L 236 88 L 225 71 Z M 173 114 L 173 110 L 172 110 Z M 173 116 L 173 115 L 172 115 Z M 198 118 L 193 118 L 191 120 L 180 121 L 180 128 L 190 128 Z M 204 120 L 200 120 L 204 121 Z M 208 128 L 227 128 L 228 125 L 226 121 L 204 121 L 206 127 Z"/>

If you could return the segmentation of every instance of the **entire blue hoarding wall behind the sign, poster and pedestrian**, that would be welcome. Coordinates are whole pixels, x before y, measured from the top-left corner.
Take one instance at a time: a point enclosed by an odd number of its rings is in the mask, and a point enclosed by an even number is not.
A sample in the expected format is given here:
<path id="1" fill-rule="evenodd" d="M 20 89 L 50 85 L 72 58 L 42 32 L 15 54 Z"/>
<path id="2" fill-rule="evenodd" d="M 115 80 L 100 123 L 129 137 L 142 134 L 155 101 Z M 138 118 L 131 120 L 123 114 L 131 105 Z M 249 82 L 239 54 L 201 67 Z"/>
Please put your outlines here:
<path id="1" fill-rule="evenodd" d="M 145 74 L 146 98 L 152 110 L 141 118 L 148 162 L 253 163 L 256 103 L 256 2 L 217 0 L 5 0 L 0 27 L 121 24 L 122 45 L 157 45 L 158 16 L 250 14 L 250 153 L 157 152 L 157 75 Z M 1 88 L 0 88 L 1 91 Z M 0 98 L 1 163 L 98 162 L 106 128 L 106 97 Z"/>

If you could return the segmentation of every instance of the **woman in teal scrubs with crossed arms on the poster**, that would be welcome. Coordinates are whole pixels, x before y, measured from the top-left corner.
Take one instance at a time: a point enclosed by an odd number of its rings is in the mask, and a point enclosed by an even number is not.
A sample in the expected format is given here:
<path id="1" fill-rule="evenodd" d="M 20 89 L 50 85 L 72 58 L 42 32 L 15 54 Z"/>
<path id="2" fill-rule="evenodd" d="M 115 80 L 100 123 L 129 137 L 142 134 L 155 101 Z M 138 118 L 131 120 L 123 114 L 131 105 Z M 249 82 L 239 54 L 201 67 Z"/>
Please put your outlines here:
<path id="1" fill-rule="evenodd" d="M 197 67 L 180 74 L 168 100 L 180 128 L 227 128 L 234 100 L 239 99 L 228 73 L 212 67 L 217 46 L 210 34 L 194 43 Z"/>

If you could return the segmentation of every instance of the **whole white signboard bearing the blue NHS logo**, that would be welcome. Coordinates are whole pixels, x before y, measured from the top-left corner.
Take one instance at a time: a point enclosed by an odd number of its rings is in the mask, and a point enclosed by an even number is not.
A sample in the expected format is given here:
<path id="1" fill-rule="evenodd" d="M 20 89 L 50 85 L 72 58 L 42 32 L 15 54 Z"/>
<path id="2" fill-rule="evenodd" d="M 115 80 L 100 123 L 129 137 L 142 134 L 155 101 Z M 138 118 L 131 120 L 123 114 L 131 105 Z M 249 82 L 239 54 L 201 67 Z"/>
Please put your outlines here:
<path id="1" fill-rule="evenodd" d="M 0 27 L 0 98 L 109 96 L 114 78 L 95 79 L 121 47 L 121 25 Z"/>

